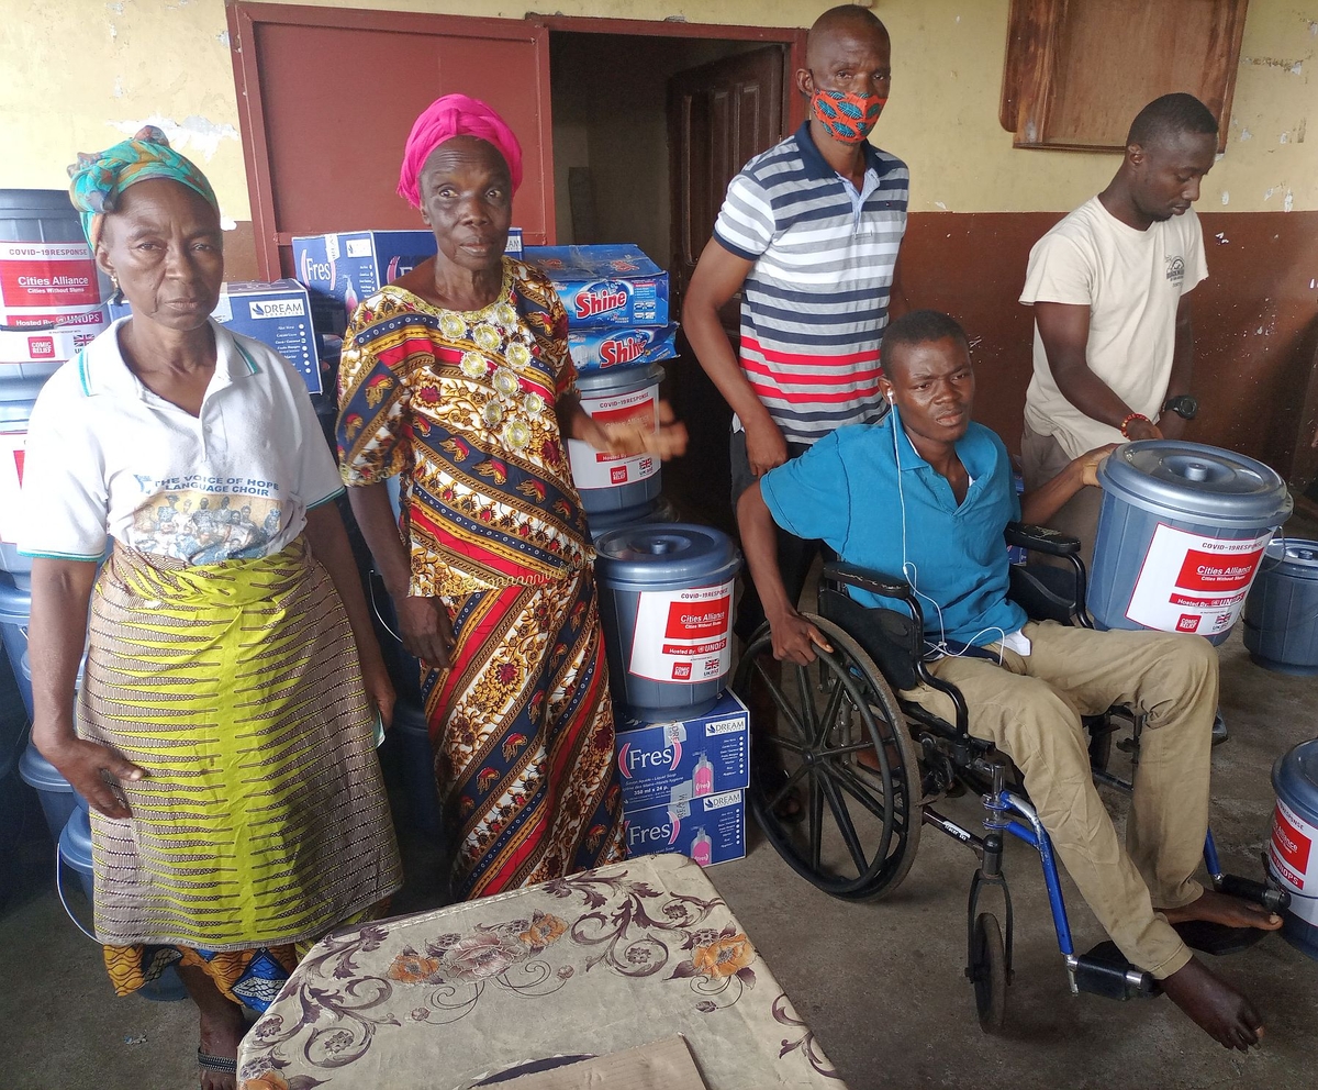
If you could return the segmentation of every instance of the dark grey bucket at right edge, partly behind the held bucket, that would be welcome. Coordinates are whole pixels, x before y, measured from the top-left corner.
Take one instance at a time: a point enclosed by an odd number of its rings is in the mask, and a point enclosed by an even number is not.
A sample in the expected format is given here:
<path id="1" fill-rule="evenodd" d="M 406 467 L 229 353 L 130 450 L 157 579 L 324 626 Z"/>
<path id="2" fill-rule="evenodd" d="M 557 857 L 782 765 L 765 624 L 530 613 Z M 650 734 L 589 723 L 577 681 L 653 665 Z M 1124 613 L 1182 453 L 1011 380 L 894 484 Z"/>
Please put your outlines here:
<path id="1" fill-rule="evenodd" d="M 1277 538 L 1244 604 L 1244 646 L 1265 670 L 1318 674 L 1318 542 Z"/>

